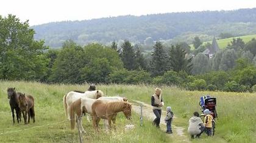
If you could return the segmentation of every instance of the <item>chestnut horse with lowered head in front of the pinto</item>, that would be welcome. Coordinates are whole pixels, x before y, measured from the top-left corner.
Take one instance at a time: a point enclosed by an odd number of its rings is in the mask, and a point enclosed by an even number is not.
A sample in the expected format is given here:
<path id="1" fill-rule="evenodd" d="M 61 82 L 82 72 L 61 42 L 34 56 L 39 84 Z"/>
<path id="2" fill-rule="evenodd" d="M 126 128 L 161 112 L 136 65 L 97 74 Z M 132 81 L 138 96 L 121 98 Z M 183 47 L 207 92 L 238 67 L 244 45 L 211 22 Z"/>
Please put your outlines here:
<path id="1" fill-rule="evenodd" d="M 114 124 L 116 122 L 116 115 L 118 112 L 123 111 L 127 119 L 132 119 L 132 104 L 124 101 L 107 102 L 96 101 L 91 106 L 93 116 L 93 127 L 96 131 L 99 131 L 100 119 L 108 120 L 108 128 L 111 130 L 111 121 Z"/>

